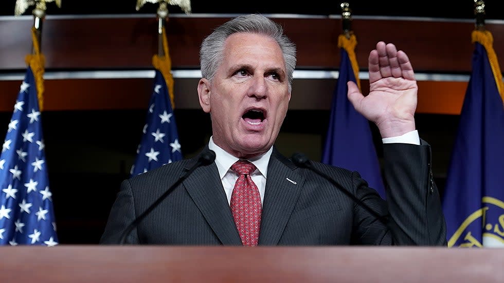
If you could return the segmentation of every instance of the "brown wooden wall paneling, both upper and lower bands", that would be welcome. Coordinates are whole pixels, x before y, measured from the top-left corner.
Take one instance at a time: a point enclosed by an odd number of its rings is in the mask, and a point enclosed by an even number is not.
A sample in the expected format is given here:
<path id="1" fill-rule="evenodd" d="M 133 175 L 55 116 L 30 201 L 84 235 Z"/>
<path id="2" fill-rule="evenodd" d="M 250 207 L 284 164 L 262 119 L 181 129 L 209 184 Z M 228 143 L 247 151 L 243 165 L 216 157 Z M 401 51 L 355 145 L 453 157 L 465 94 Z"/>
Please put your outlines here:
<path id="1" fill-rule="evenodd" d="M 203 37 L 228 18 L 171 17 L 167 23 L 173 69 L 199 68 Z M 339 66 L 337 18 L 275 18 L 298 47 L 298 69 L 333 70 Z M 31 52 L 29 17 L 0 17 L 0 72 L 25 69 Z M 416 71 L 469 73 L 474 45 L 470 22 L 358 19 L 353 21 L 357 60 L 367 68 L 367 56 L 377 41 L 405 50 Z M 487 24 L 494 36 L 499 64 L 504 66 L 504 24 Z M 157 52 L 157 20 L 146 17 L 51 18 L 44 22 L 42 50 L 46 70 L 152 69 Z M 150 79 L 46 80 L 46 110 L 140 109 L 151 91 Z M 334 79 L 296 79 L 291 109 L 329 109 Z M 176 79 L 176 107 L 199 108 L 197 79 Z M 0 81 L 0 111 L 11 111 L 20 82 Z M 459 114 L 466 82 L 419 82 L 417 112 Z M 364 82 L 363 89 L 368 89 Z"/>

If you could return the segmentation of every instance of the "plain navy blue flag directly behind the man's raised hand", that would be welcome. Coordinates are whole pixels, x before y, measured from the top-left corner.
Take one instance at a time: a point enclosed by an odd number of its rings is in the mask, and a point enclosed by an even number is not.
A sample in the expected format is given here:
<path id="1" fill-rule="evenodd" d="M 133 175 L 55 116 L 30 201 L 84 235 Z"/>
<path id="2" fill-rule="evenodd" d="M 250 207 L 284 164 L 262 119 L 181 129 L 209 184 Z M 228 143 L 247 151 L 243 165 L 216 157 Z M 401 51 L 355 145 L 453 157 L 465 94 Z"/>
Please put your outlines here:
<path id="1" fill-rule="evenodd" d="M 341 48 L 339 76 L 334 90 L 329 129 L 322 163 L 357 171 L 385 199 L 380 163 L 376 155 L 368 120 L 347 98 L 347 82 L 356 82 L 352 62 Z"/>

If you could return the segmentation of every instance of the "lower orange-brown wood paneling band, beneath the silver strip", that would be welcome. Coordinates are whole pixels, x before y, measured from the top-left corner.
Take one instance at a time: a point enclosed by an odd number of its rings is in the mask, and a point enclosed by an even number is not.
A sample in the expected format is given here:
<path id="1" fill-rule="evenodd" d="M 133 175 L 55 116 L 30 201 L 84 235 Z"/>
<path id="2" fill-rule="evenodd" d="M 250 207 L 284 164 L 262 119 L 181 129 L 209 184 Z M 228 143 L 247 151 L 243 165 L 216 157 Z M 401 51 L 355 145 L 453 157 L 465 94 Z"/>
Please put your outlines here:
<path id="1" fill-rule="evenodd" d="M 46 80 L 44 110 L 147 109 L 153 79 Z M 175 80 L 175 107 L 199 109 L 197 79 Z M 0 111 L 12 111 L 21 82 L 0 81 Z M 329 110 L 336 80 L 294 80 L 290 109 Z M 361 80 L 364 92 L 369 81 Z M 466 82 L 418 82 L 417 113 L 458 115 Z"/>

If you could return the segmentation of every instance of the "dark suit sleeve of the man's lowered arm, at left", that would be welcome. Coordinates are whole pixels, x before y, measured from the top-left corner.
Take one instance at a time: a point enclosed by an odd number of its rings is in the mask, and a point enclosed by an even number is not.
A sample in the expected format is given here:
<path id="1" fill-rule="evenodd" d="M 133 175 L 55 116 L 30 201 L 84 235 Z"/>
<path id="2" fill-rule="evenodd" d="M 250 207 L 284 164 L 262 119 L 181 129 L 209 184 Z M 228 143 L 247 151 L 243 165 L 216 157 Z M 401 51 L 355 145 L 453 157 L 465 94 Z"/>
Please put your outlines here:
<path id="1" fill-rule="evenodd" d="M 120 244 L 122 233 L 136 218 L 135 203 L 131 184 L 128 180 L 121 183 L 121 188 L 112 206 L 107 220 L 105 231 L 100 239 L 100 244 Z M 136 228 L 133 229 L 124 243 L 137 244 L 138 236 Z"/>

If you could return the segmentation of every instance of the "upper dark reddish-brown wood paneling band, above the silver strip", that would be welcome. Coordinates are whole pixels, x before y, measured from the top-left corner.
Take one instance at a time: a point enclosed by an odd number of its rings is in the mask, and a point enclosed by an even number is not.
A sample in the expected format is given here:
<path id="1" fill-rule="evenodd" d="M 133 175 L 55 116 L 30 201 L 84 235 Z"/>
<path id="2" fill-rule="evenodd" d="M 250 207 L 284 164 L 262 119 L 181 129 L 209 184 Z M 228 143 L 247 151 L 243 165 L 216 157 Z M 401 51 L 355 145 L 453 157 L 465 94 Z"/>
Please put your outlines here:
<path id="1" fill-rule="evenodd" d="M 9 20 L 10 19 L 10 20 Z M 26 18 L 24 18 L 26 19 Z M 199 66 L 203 37 L 228 18 L 172 17 L 167 23 L 173 68 Z M 44 22 L 42 51 L 46 68 L 105 69 L 150 68 L 157 52 L 155 18 L 50 18 Z M 341 21 L 335 18 L 275 18 L 298 46 L 298 68 L 337 68 L 337 36 Z M 31 50 L 31 20 L 0 21 L 0 70 L 24 68 Z M 504 65 L 504 24 L 487 24 L 494 36 L 499 64 Z M 470 22 L 353 20 L 357 60 L 367 68 L 367 56 L 377 41 L 392 42 L 406 51 L 416 70 L 469 72 Z"/>

